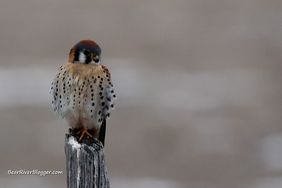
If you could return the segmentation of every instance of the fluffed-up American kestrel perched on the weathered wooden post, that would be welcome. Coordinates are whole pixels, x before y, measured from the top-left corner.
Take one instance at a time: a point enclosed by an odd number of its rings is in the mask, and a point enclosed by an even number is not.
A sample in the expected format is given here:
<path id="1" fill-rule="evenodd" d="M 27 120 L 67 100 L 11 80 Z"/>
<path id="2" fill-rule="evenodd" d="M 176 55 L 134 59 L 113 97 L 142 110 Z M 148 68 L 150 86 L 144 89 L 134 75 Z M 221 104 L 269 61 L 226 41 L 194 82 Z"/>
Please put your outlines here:
<path id="1" fill-rule="evenodd" d="M 106 119 L 114 109 L 116 95 L 109 70 L 100 64 L 101 52 L 92 40 L 74 45 L 69 61 L 59 68 L 50 94 L 55 113 L 70 128 L 81 129 L 79 141 L 86 133 L 104 146 Z"/>

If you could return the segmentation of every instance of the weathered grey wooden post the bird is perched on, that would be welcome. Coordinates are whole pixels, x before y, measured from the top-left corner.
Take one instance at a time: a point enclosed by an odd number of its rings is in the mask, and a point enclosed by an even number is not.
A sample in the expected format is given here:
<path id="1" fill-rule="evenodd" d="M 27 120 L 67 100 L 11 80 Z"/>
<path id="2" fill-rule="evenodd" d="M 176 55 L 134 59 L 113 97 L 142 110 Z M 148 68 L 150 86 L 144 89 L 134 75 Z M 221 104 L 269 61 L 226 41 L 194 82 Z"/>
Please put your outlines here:
<path id="1" fill-rule="evenodd" d="M 104 148 L 96 138 L 79 144 L 70 133 L 65 135 L 67 188 L 109 188 Z M 76 136 L 76 135 L 75 135 Z"/>

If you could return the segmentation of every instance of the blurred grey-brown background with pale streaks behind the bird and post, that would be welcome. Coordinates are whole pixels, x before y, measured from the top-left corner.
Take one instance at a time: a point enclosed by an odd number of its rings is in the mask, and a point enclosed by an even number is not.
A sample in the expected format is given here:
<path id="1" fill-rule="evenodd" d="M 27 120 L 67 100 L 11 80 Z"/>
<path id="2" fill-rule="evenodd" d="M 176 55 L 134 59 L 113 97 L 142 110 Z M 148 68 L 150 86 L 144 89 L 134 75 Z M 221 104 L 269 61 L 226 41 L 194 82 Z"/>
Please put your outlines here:
<path id="1" fill-rule="evenodd" d="M 282 2 L 1 1 L 0 187 L 66 187 L 49 96 L 74 44 L 102 48 L 118 100 L 111 187 L 282 187 Z M 8 175 L 8 170 L 63 175 Z"/>

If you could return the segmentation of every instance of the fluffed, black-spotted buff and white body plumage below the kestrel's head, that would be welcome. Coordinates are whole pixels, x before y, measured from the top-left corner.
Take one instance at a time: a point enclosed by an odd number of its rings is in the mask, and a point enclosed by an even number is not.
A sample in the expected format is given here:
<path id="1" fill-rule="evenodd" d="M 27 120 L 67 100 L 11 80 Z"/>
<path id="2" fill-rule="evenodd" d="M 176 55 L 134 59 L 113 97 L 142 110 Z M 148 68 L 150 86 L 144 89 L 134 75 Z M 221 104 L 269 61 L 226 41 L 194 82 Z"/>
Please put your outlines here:
<path id="1" fill-rule="evenodd" d="M 50 95 L 55 113 L 72 128 L 99 128 L 116 100 L 105 66 L 70 62 L 59 68 Z"/>

